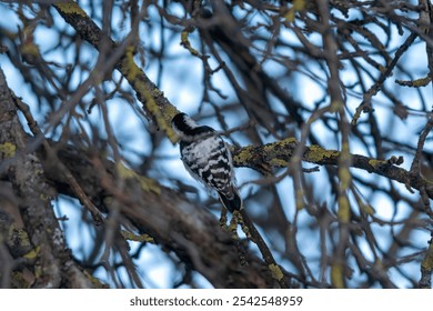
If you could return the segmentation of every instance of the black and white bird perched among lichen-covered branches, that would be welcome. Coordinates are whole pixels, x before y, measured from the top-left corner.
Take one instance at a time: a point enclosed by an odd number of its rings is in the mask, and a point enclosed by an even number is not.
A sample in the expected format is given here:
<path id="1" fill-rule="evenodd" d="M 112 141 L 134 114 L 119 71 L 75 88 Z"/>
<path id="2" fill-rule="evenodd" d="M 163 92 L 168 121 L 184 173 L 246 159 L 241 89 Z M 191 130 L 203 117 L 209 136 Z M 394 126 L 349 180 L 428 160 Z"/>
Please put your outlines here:
<path id="1" fill-rule="evenodd" d="M 188 172 L 216 191 L 230 211 L 242 208 L 242 199 L 234 184 L 233 161 L 229 148 L 214 129 L 198 124 L 185 113 L 171 121 L 180 140 L 181 160 Z"/>

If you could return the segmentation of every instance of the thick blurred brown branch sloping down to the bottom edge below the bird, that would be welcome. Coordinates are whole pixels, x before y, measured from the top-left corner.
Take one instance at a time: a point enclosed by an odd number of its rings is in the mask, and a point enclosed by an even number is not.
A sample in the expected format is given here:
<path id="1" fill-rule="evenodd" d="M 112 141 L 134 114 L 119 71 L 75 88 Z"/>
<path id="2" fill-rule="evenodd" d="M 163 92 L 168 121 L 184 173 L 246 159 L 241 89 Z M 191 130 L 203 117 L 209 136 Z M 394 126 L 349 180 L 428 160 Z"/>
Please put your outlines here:
<path id="1" fill-rule="evenodd" d="M 72 147 L 52 144 L 60 161 L 72 172 L 92 202 L 110 210 L 109 198 L 121 203 L 121 214 L 140 231 L 151 235 L 163 249 L 173 251 L 185 264 L 204 275 L 215 288 L 273 288 L 274 279 L 266 265 L 246 252 L 248 265 L 241 265 L 231 233 L 223 231 L 215 217 L 188 201 L 181 193 L 153 180 L 131 173 L 125 191 L 114 183 L 117 167 L 111 161 L 95 164 L 92 156 Z M 43 161 L 48 179 L 67 195 L 74 195 L 63 173 Z M 97 165 L 97 167 L 95 167 Z M 99 167 L 101 165 L 101 167 Z M 103 185 L 105 189 L 103 189 Z M 108 191 L 107 189 L 111 189 Z"/>

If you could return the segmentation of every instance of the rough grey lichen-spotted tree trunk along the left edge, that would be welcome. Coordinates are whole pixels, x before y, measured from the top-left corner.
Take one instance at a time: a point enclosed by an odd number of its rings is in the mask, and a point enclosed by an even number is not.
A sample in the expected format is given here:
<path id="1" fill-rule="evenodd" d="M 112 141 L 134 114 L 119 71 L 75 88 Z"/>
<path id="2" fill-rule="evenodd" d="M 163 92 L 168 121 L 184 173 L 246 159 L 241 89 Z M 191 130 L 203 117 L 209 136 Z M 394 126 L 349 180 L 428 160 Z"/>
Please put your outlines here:
<path id="1" fill-rule="evenodd" d="M 27 139 L 0 69 L 0 175 L 6 177 L 12 184 L 13 195 L 18 200 L 11 203 L 19 205 L 20 218 L 30 237 L 29 243 L 34 248 L 31 255 L 34 259 L 34 283 L 23 285 L 93 288 L 70 258 L 50 203 L 49 185 L 44 180 L 41 162 L 33 152 L 28 152 Z M 4 211 L 0 209 L 0 212 Z"/>

